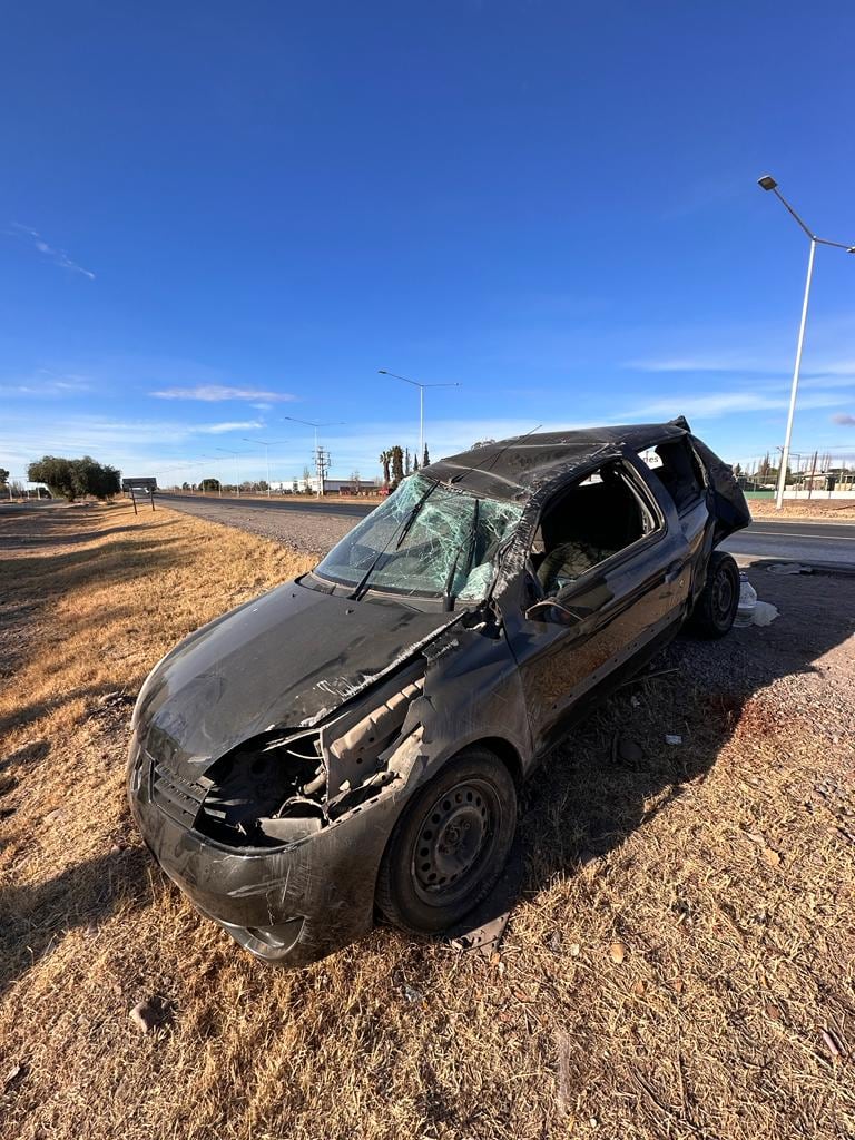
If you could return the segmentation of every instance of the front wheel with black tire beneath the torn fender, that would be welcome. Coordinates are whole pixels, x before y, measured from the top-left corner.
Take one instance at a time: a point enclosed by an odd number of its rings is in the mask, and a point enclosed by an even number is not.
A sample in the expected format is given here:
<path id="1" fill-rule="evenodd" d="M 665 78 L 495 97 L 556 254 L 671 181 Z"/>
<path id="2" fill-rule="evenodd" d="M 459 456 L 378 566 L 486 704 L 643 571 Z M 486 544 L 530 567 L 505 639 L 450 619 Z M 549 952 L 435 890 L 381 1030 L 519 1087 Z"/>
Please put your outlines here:
<path id="1" fill-rule="evenodd" d="M 377 878 L 383 915 L 410 934 L 459 922 L 498 881 L 516 831 L 516 788 L 502 760 L 467 748 L 415 793 Z"/>

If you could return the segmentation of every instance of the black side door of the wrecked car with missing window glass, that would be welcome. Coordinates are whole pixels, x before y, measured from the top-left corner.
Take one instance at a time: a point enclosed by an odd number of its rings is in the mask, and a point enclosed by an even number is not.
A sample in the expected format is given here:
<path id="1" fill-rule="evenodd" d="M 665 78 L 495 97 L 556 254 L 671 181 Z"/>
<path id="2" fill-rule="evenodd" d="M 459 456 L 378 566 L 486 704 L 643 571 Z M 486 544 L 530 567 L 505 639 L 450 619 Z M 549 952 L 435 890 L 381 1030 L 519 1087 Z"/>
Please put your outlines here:
<path id="1" fill-rule="evenodd" d="M 552 597 L 532 600 L 529 562 L 528 587 L 523 581 L 519 597 L 508 597 L 503 606 L 536 751 L 554 743 L 583 699 L 654 648 L 685 612 L 690 551 L 673 502 L 651 488 L 638 466 L 611 466 L 624 483 L 627 504 L 637 505 L 638 536 Z M 555 490 L 564 492 L 562 487 Z M 547 499 L 543 513 L 549 505 Z"/>

